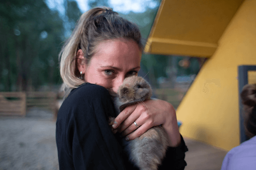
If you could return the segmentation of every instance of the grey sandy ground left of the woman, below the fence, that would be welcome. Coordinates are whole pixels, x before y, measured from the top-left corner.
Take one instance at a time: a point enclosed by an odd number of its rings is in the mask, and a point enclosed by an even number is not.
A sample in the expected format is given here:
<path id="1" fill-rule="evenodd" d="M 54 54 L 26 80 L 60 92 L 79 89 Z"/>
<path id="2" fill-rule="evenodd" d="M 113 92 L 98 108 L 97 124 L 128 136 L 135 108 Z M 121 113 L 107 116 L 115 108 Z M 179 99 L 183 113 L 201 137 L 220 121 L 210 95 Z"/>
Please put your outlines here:
<path id="1" fill-rule="evenodd" d="M 0 170 L 59 170 L 55 121 L 48 110 L 0 117 Z"/>

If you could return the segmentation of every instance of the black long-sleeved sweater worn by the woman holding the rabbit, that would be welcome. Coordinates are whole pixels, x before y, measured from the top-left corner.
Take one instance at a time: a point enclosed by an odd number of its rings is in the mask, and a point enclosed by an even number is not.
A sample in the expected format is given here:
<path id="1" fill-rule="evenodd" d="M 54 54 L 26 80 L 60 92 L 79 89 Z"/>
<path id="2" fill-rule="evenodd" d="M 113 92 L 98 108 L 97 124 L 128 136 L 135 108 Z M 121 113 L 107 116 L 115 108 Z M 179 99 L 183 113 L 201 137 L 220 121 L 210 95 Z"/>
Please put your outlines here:
<path id="1" fill-rule="evenodd" d="M 121 148 L 121 138 L 111 132 L 108 117 L 115 117 L 108 90 L 85 83 L 63 102 L 56 121 L 60 170 L 130 170 L 135 168 Z M 169 147 L 159 170 L 183 170 L 187 147 Z"/>

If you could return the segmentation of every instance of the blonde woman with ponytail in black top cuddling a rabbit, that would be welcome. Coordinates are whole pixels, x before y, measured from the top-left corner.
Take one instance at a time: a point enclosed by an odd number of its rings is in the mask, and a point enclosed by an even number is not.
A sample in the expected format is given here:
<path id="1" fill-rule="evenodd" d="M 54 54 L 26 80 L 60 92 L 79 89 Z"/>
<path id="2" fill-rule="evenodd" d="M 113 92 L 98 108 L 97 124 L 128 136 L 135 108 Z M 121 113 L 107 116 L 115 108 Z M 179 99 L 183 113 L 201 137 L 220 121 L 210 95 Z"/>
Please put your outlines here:
<path id="1" fill-rule="evenodd" d="M 74 88 L 56 121 L 60 170 L 136 169 L 107 120 L 115 117 L 110 94 L 117 93 L 126 77 L 137 75 L 141 53 L 137 26 L 110 8 L 93 8 L 80 17 L 60 53 L 61 77 L 67 87 Z M 133 140 L 150 127 L 162 125 L 169 134 L 170 146 L 159 169 L 183 170 L 187 147 L 178 131 L 173 106 L 163 100 L 145 104 L 147 110 L 142 104 L 126 107 L 113 127 L 121 127 L 125 139 Z"/>

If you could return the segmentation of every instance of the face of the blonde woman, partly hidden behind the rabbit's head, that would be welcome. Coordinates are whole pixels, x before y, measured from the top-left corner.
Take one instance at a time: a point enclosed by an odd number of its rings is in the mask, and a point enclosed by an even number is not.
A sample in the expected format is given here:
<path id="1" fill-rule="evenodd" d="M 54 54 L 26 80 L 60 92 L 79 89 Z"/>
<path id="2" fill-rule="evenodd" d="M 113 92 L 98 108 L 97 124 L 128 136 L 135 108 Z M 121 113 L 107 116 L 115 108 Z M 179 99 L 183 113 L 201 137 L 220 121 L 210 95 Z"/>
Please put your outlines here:
<path id="1" fill-rule="evenodd" d="M 117 93 L 126 77 L 140 70 L 141 50 L 134 40 L 106 40 L 85 66 L 85 81 Z"/>

